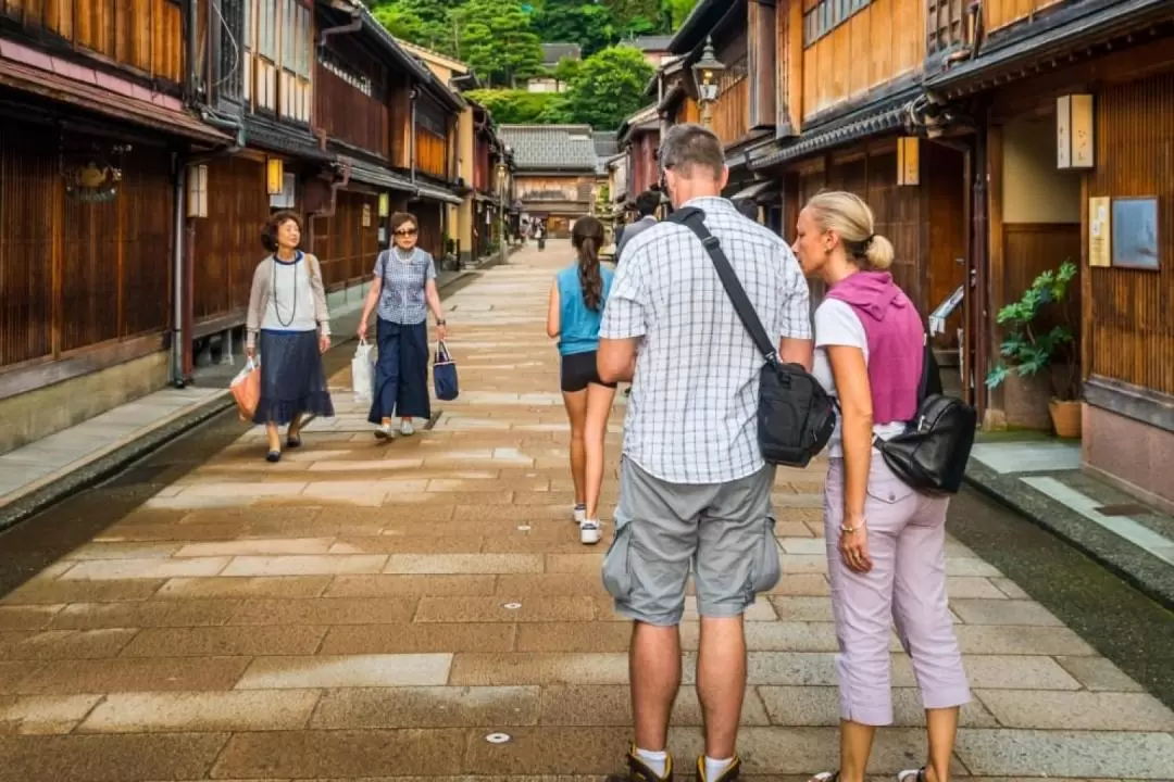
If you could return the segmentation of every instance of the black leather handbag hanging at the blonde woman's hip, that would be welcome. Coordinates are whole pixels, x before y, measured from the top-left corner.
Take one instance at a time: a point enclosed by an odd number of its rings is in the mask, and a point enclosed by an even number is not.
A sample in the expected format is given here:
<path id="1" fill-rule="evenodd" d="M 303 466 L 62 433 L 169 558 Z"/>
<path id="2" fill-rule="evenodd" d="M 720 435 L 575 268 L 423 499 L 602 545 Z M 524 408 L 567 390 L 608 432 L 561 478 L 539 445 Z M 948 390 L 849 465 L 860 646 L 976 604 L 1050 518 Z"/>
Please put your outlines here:
<path id="1" fill-rule="evenodd" d="M 937 388 L 931 389 L 931 378 L 938 378 Z M 977 426 L 973 407 L 940 393 L 937 360 L 926 338 L 917 416 L 902 434 L 889 440 L 873 436 L 872 444 L 905 484 L 929 495 L 956 494 L 966 474 Z"/>

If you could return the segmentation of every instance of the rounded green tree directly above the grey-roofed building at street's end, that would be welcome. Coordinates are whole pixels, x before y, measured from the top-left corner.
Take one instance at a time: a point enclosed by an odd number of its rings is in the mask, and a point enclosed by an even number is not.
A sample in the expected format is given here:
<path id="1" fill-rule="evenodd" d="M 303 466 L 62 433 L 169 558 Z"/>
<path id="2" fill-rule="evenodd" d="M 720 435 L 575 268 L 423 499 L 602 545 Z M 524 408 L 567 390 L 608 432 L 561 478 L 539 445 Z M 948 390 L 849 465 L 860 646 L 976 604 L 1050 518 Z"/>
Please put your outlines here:
<path id="1" fill-rule="evenodd" d="M 579 76 L 552 114 L 561 115 L 560 121 L 589 124 L 599 130 L 618 128 L 625 117 L 643 107 L 645 86 L 653 73 L 636 48 L 603 49 L 583 61 Z"/>

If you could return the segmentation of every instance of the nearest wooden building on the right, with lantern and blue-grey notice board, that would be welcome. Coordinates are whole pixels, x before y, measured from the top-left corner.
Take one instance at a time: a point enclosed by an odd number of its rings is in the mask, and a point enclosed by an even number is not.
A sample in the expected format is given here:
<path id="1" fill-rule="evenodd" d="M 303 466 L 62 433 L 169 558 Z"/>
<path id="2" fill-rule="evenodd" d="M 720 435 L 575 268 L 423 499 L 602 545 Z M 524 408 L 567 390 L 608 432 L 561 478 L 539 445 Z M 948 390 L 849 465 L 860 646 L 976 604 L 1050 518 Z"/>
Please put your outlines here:
<path id="1" fill-rule="evenodd" d="M 1160 465 L 1174 454 L 1165 314 L 1174 294 L 1174 5 L 985 5 L 977 42 L 973 26 L 953 35 L 943 26 L 945 49 L 965 54 L 925 80 L 944 107 L 943 132 L 971 144 L 976 162 L 976 374 L 999 361 L 1005 332 L 994 314 L 1064 261 L 1078 267 L 1068 304 L 1039 326 L 1071 325 L 1077 339 L 1052 376 L 1008 378 L 979 388 L 977 401 L 987 426 L 1048 428 L 1048 400 L 1067 390 L 1082 402 L 1085 469 L 1172 510 Z M 1064 388 L 1057 381 L 1070 366 L 1077 382 Z"/>

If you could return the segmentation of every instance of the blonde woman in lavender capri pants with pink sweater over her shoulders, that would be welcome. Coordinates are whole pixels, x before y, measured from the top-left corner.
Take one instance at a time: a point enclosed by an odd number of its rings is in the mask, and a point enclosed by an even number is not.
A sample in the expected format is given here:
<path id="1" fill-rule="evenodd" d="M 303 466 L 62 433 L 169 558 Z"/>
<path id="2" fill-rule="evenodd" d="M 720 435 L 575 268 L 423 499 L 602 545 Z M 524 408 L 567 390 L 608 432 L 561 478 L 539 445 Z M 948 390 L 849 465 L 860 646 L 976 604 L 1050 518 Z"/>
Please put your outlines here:
<path id="1" fill-rule="evenodd" d="M 885 271 L 892 245 L 859 197 L 825 192 L 808 202 L 795 253 L 829 290 L 815 312 L 814 374 L 841 408 L 823 504 L 839 639 L 839 770 L 812 781 L 863 782 L 876 728 L 892 723 L 891 621 L 912 659 L 929 733 L 925 766 L 898 780 L 947 782 L 959 707 L 970 700 L 946 606 L 950 501 L 915 491 L 873 447 L 916 416 L 925 329 Z"/>

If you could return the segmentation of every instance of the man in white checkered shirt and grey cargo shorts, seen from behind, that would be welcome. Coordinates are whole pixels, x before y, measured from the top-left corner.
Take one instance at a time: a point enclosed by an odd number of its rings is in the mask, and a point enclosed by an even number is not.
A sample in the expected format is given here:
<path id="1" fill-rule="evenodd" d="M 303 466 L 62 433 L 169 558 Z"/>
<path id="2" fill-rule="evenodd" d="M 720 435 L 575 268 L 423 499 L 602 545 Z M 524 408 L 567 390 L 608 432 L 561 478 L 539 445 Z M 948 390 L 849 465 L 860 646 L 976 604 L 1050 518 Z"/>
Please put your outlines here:
<path id="1" fill-rule="evenodd" d="M 810 370 L 807 281 L 782 238 L 721 197 L 729 177 L 721 141 L 700 125 L 675 125 L 660 162 L 673 206 L 704 211 L 782 360 Z M 690 565 L 706 725 L 699 768 L 703 782 L 738 774 L 742 614 L 781 576 L 770 504 L 775 469 L 763 462 L 757 440 L 764 362 L 689 229 L 660 223 L 633 237 L 603 311 L 598 355 L 605 381 L 632 381 L 603 583 L 616 611 L 635 621 L 633 780 L 672 776 L 666 742 L 681 684 L 677 625 Z"/>

